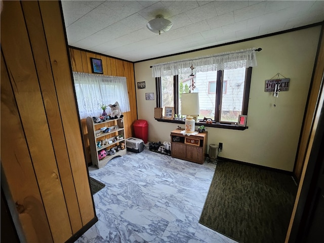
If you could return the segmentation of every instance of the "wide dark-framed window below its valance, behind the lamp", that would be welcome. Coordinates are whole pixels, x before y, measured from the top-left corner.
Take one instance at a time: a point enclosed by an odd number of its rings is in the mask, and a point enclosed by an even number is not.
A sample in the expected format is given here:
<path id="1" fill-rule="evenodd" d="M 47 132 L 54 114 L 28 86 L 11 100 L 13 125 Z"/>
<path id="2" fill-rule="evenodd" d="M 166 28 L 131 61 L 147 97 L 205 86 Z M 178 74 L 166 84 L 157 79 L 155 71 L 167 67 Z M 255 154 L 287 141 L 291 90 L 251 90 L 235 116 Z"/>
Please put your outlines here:
<path id="1" fill-rule="evenodd" d="M 238 115 L 246 115 L 248 111 L 251 72 L 252 67 L 197 72 L 193 92 L 199 93 L 198 119 L 206 117 L 222 124 L 237 123 Z M 181 94 L 188 93 L 191 82 L 190 73 L 161 77 L 162 102 L 158 107 L 173 106 L 175 112 L 181 114 Z"/>

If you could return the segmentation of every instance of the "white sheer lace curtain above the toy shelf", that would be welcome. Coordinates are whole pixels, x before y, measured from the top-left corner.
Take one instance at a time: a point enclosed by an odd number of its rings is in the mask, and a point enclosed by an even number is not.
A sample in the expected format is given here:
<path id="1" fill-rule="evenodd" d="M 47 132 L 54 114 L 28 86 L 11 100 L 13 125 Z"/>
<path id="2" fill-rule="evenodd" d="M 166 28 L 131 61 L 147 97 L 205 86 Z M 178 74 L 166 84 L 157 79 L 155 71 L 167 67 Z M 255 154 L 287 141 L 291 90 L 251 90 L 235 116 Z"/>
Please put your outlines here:
<path id="1" fill-rule="evenodd" d="M 121 112 L 130 111 L 126 77 L 73 72 L 80 118 L 100 116 L 100 104 L 119 103 Z M 109 114 L 110 107 L 107 108 Z"/>

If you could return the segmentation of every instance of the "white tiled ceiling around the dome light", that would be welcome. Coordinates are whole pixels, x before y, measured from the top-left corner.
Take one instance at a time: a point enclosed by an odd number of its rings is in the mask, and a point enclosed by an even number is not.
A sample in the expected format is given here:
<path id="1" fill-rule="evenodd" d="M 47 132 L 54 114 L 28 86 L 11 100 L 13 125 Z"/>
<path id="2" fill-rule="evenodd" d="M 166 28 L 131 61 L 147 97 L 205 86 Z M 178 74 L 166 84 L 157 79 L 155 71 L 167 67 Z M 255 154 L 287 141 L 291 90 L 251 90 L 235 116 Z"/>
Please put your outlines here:
<path id="1" fill-rule="evenodd" d="M 68 45 L 141 61 L 324 20 L 324 1 L 62 1 Z M 173 23 L 158 35 L 146 24 Z"/>

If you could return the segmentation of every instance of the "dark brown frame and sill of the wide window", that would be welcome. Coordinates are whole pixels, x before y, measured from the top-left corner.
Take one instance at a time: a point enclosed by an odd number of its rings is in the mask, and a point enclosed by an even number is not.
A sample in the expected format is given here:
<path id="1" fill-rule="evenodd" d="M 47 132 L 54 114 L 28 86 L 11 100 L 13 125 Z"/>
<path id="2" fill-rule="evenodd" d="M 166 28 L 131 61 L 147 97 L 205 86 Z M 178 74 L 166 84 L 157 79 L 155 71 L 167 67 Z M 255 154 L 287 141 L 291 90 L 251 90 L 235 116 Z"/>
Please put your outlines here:
<path id="1" fill-rule="evenodd" d="M 225 129 L 235 129 L 235 130 L 245 130 L 248 127 L 240 127 L 237 126 L 237 124 L 233 123 L 220 123 L 220 113 L 221 113 L 221 102 L 222 102 L 222 95 L 223 95 L 223 70 L 217 71 L 217 79 L 216 79 L 216 100 L 215 100 L 215 120 L 213 120 L 212 124 L 206 124 L 202 120 L 199 120 L 196 125 L 205 125 L 206 127 L 216 127 L 216 128 L 225 128 Z M 244 82 L 244 93 L 243 93 L 243 100 L 242 100 L 242 115 L 248 114 L 248 108 L 249 108 L 249 97 L 250 97 L 250 89 L 251 89 L 251 77 L 252 77 L 252 67 L 246 68 L 245 72 L 245 82 Z M 178 92 L 178 75 L 173 76 L 173 82 L 174 82 L 174 108 L 175 108 L 175 114 L 178 113 L 178 98 L 179 98 L 179 92 Z M 155 86 L 156 86 L 156 107 L 161 107 L 161 78 L 155 77 Z M 220 91 L 221 92 L 217 92 Z M 180 123 L 184 124 L 184 121 L 180 120 L 164 120 L 164 119 L 156 119 L 158 121 L 165 121 L 165 122 L 171 122 L 171 123 Z"/>

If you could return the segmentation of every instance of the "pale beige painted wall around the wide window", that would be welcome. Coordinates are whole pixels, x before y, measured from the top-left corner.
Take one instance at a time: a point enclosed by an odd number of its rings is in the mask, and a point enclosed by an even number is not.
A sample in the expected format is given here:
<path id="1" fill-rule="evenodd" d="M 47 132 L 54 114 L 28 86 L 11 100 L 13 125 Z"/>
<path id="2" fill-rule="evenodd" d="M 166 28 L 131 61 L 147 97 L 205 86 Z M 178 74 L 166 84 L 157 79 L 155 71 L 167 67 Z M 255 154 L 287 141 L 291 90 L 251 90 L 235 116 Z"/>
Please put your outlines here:
<path id="1" fill-rule="evenodd" d="M 136 89 L 136 94 L 138 119 L 146 119 L 149 124 L 148 140 L 170 141 L 170 132 L 178 125 L 156 121 L 153 116 L 156 100 L 145 100 L 145 93 L 155 94 L 151 65 L 260 47 L 262 51 L 257 53 L 258 66 L 252 70 L 247 120 L 249 129 L 236 131 L 208 128 L 208 144 L 222 142 L 223 151 L 219 154 L 222 157 L 293 171 L 319 34 L 320 26 L 316 26 L 253 41 L 135 63 L 135 82 L 146 82 L 146 89 Z M 289 91 L 279 93 L 276 107 L 273 107 L 275 98 L 272 93 L 264 92 L 264 83 L 276 73 L 291 80 Z"/>

